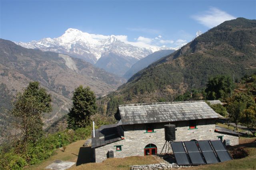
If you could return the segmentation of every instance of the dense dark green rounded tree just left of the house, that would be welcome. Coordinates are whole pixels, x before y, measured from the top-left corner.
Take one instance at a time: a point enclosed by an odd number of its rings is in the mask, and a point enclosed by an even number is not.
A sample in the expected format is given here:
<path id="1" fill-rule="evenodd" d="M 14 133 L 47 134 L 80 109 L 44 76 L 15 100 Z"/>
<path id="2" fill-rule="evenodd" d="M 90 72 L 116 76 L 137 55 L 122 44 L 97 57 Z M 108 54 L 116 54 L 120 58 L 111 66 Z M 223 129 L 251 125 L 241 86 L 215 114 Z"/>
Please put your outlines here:
<path id="1" fill-rule="evenodd" d="M 90 116 L 97 111 L 96 96 L 90 87 L 79 86 L 75 89 L 73 107 L 68 113 L 68 128 L 77 129 L 90 124 Z"/>

